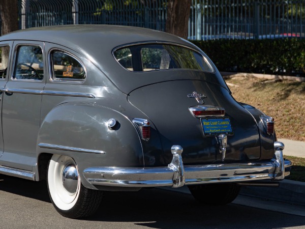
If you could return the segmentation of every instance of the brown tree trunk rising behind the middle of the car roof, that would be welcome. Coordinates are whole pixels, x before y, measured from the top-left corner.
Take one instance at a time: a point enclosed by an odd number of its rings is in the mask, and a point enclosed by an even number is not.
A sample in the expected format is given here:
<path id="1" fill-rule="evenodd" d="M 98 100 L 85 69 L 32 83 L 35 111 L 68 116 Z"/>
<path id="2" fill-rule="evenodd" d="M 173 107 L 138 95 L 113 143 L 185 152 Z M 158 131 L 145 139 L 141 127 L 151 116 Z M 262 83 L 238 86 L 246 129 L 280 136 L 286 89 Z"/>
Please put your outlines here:
<path id="1" fill-rule="evenodd" d="M 169 0 L 165 30 L 187 39 L 192 0 Z"/>

